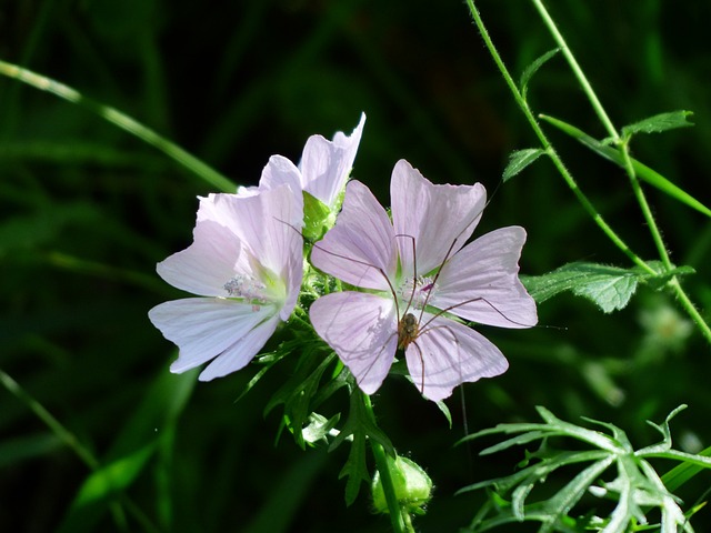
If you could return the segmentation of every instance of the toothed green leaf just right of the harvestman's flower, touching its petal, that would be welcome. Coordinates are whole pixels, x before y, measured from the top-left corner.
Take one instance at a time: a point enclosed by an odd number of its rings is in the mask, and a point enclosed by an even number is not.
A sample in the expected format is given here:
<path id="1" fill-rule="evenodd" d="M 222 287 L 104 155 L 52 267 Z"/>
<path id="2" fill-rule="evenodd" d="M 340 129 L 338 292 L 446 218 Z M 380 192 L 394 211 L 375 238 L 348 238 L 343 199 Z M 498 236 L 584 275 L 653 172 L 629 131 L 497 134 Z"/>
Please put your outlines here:
<path id="1" fill-rule="evenodd" d="M 611 313 L 629 303 L 641 273 L 598 263 L 574 262 L 539 276 L 521 276 L 529 294 L 538 302 L 572 291 L 592 301 L 603 312 Z"/>

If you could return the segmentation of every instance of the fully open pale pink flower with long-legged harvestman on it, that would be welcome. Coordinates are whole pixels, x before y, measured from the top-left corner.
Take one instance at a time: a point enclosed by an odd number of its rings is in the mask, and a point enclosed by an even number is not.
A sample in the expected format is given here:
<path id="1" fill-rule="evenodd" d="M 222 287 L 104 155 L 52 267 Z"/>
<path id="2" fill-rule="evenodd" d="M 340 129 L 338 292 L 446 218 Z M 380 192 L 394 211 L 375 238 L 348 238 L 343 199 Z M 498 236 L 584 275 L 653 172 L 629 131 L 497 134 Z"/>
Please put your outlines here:
<path id="1" fill-rule="evenodd" d="M 336 227 L 311 261 L 367 292 L 319 298 L 311 323 L 363 392 L 380 388 L 400 346 L 414 384 L 439 401 L 460 383 L 508 369 L 497 346 L 452 315 L 501 328 L 537 323 L 518 279 L 525 231 L 502 228 L 463 247 L 485 205 L 484 188 L 434 185 L 404 160 L 390 195 L 392 222 L 365 185 L 348 184 Z"/>

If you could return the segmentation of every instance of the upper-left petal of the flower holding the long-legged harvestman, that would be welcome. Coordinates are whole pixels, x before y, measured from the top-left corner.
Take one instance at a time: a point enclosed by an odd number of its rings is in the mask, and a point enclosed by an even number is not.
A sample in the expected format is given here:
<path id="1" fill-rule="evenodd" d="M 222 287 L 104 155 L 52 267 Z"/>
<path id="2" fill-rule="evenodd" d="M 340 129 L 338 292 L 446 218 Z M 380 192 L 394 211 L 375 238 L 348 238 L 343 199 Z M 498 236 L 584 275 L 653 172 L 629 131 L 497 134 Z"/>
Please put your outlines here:
<path id="1" fill-rule="evenodd" d="M 385 276 L 393 279 L 398 264 L 392 224 L 361 182 L 348 183 L 336 225 L 313 245 L 311 263 L 352 285 L 390 291 Z"/>

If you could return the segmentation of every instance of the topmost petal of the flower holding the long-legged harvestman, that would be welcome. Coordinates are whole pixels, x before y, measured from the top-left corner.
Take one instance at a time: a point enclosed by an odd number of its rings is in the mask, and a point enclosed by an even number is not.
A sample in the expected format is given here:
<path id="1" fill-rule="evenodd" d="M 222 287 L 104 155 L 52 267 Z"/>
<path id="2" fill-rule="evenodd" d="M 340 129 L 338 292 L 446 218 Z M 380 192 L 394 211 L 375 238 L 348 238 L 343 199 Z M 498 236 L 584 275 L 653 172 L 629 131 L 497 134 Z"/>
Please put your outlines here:
<path id="1" fill-rule="evenodd" d="M 481 219 L 487 191 L 474 185 L 435 185 L 405 160 L 395 163 L 390 182 L 395 234 L 415 243 L 418 275 L 431 272 L 464 245 Z M 413 273 L 412 239 L 398 238 L 400 261 Z"/>

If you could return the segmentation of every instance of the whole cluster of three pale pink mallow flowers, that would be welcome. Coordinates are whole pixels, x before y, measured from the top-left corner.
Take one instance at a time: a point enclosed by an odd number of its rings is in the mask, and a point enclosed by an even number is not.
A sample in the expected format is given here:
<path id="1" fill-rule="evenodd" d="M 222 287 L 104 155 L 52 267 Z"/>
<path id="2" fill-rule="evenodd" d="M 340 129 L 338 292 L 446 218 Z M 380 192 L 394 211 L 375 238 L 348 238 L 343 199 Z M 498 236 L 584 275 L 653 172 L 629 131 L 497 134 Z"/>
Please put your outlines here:
<path id="1" fill-rule="evenodd" d="M 180 348 L 171 371 L 211 361 L 200 374 L 208 381 L 246 366 L 289 320 L 314 270 L 344 290 L 311 303 L 311 324 L 367 394 L 380 388 L 399 349 L 413 383 L 433 401 L 507 370 L 499 349 L 468 323 L 537 323 L 518 279 L 525 231 L 502 228 L 467 244 L 484 188 L 432 184 L 404 160 L 392 172 L 389 217 L 363 183 L 347 184 L 364 120 L 349 137 L 311 137 L 298 165 L 271 157 L 258 187 L 200 199 L 193 243 L 159 263 L 158 273 L 201 298 L 149 313 Z M 307 242 L 313 202 L 322 239 Z"/>

